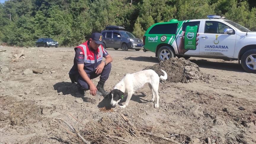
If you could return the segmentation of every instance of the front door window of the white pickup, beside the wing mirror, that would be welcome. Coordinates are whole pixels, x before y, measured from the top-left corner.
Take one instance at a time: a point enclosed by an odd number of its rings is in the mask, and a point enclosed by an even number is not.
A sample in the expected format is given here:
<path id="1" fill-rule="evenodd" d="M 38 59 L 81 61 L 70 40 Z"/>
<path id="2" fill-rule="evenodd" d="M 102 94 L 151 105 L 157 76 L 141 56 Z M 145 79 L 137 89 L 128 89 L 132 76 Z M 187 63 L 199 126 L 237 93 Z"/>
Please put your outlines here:
<path id="1" fill-rule="evenodd" d="M 228 25 L 217 21 L 206 21 L 204 33 L 224 33 L 225 28 L 230 28 Z"/>

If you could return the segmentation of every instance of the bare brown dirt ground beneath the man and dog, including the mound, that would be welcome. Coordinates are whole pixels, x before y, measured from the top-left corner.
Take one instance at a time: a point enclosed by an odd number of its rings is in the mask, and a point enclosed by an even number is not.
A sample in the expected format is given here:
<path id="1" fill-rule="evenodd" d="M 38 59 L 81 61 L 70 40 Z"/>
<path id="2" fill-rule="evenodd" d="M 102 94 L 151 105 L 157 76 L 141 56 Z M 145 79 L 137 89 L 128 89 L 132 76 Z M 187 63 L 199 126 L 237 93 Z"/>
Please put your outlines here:
<path id="1" fill-rule="evenodd" d="M 153 52 L 107 49 L 113 62 L 105 90 L 127 73 L 149 68 L 168 73 L 159 84 L 159 108 L 146 84 L 126 108 L 108 110 L 107 97 L 82 96 L 71 83 L 73 48 L 23 48 L 24 57 L 12 62 L 21 49 L 1 46 L 0 144 L 82 143 L 55 118 L 90 143 L 256 143 L 256 74 L 237 61 L 192 57 L 159 63 Z"/>

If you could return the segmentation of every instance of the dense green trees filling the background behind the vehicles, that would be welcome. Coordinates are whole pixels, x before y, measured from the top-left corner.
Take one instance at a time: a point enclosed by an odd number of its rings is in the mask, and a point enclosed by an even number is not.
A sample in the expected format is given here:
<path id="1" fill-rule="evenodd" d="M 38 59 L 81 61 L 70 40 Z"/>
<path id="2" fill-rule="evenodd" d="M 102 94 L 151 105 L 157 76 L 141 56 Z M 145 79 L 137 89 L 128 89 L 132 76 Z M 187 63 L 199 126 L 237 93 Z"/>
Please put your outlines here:
<path id="1" fill-rule="evenodd" d="M 154 23 L 222 15 L 256 31 L 255 0 L 9 0 L 0 3 L 1 43 L 34 46 L 41 37 L 76 46 L 106 25 L 142 38 Z"/>

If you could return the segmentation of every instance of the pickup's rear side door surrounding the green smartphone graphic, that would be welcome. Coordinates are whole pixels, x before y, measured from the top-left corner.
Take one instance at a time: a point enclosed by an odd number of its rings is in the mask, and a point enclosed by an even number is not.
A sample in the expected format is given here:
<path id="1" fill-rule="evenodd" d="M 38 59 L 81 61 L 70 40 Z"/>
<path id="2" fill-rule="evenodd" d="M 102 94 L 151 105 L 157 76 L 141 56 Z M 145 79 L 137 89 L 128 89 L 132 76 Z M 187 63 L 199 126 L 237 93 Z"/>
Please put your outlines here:
<path id="1" fill-rule="evenodd" d="M 200 33 L 201 31 L 201 24 L 202 20 L 191 20 L 191 21 L 184 21 L 182 24 L 178 25 L 177 28 L 177 34 L 176 34 L 176 39 L 177 39 L 177 46 L 180 55 L 199 55 L 199 41 L 196 41 L 196 49 L 195 50 L 187 50 L 185 49 L 185 30 L 186 27 L 189 26 L 195 26 L 197 25 L 197 33 Z M 197 36 L 199 38 L 199 36 Z M 197 39 L 196 38 L 196 39 Z M 199 40 L 199 39 L 197 39 Z"/>

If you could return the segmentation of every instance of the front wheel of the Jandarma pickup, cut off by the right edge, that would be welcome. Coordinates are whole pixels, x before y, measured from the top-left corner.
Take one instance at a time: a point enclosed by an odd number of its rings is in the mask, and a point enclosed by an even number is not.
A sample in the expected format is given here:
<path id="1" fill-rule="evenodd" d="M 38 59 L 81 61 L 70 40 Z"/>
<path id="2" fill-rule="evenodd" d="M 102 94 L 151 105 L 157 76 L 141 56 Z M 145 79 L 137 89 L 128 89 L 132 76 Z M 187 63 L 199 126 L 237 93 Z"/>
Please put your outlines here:
<path id="1" fill-rule="evenodd" d="M 241 65 L 248 73 L 256 73 L 256 49 L 249 50 L 242 55 Z"/>

